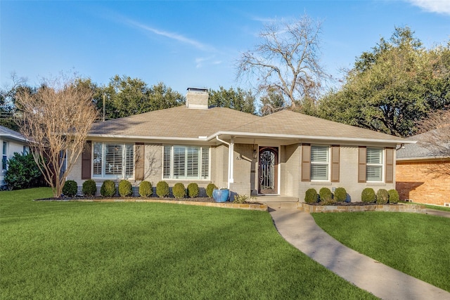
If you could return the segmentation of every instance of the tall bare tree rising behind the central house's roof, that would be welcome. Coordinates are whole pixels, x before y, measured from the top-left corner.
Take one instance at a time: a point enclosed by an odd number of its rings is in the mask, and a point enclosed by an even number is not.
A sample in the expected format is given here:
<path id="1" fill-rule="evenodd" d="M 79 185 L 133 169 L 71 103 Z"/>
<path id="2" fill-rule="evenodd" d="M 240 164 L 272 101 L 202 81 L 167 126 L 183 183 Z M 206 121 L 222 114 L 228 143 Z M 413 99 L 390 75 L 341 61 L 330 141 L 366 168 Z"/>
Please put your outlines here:
<path id="1" fill-rule="evenodd" d="M 307 15 L 292 23 L 272 22 L 259 33 L 261 43 L 242 53 L 237 61 L 238 79 L 258 82 L 259 93 L 278 91 L 283 107 L 295 109 L 296 101 L 314 101 L 326 77 L 319 64 L 321 23 Z"/>

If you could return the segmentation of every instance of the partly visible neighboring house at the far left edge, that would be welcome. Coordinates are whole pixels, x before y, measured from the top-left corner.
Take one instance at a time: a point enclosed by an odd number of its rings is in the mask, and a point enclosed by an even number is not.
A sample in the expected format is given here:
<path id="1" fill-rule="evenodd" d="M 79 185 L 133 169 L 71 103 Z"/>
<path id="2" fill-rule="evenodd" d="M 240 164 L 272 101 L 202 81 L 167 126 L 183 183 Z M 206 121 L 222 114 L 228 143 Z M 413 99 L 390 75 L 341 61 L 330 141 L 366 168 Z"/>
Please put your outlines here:
<path id="1" fill-rule="evenodd" d="M 27 153 L 30 148 L 27 145 L 25 136 L 0 125 L 0 145 L 1 145 L 1 169 L 0 188 L 5 186 L 4 176 L 8 169 L 8 159 L 13 157 L 14 152 Z"/>

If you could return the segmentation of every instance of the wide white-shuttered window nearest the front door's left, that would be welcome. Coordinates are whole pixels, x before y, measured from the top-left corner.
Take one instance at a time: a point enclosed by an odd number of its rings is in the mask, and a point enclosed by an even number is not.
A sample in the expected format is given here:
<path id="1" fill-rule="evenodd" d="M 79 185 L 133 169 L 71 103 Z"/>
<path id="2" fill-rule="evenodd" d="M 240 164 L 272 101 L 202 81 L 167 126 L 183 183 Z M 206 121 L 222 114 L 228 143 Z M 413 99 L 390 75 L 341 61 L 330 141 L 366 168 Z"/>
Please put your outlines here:
<path id="1" fill-rule="evenodd" d="M 163 156 L 163 178 L 210 178 L 210 149 L 207 147 L 165 145 Z"/>

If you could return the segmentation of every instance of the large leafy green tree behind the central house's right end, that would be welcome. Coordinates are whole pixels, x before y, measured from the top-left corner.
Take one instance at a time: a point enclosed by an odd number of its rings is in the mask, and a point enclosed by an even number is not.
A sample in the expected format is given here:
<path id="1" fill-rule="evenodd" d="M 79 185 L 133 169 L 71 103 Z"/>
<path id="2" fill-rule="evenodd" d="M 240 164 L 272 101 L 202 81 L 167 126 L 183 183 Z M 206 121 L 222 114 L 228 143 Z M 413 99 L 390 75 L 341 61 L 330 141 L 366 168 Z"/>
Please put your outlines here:
<path id="1" fill-rule="evenodd" d="M 356 59 L 338 91 L 316 114 L 395 136 L 411 136 L 430 110 L 449 103 L 449 46 L 427 51 L 409 27 L 396 27 Z"/>

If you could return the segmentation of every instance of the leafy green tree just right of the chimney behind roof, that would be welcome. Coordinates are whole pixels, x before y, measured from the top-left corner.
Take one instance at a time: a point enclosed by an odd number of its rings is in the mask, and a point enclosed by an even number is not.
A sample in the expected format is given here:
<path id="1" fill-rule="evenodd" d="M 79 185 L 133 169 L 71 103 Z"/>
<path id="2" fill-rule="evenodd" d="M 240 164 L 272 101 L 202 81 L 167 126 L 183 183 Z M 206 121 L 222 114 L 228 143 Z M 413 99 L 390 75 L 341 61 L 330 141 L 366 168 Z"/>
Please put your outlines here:
<path id="1" fill-rule="evenodd" d="M 210 90 L 210 99 L 208 104 L 217 107 L 228 107 L 241 112 L 248 112 L 255 115 L 255 96 L 250 91 L 243 89 L 226 90 L 223 86 L 219 86 L 219 90 Z"/>

